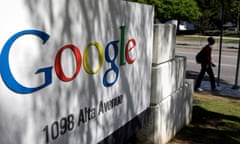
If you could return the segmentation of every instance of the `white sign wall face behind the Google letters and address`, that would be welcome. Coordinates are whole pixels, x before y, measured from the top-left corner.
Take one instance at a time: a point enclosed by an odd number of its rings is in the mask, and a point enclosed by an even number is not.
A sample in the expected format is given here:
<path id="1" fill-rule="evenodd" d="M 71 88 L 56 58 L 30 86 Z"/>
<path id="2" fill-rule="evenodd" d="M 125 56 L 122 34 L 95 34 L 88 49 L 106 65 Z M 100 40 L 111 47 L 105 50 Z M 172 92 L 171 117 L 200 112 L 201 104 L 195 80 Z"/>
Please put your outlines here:
<path id="1" fill-rule="evenodd" d="M 77 46 L 82 56 L 85 47 L 92 41 L 101 43 L 105 49 L 109 41 L 121 40 L 121 25 L 126 26 L 124 45 L 131 38 L 136 40 L 136 47 L 129 52 L 136 61 L 124 66 L 119 66 L 118 43 L 116 63 L 119 77 L 111 87 L 103 86 L 104 73 L 111 66 L 105 59 L 95 75 L 88 74 L 82 64 L 79 74 L 70 82 L 60 81 L 53 68 L 52 83 L 28 94 L 10 90 L 3 82 L 3 71 L 6 70 L 1 68 L 1 144 L 44 144 L 46 128 L 51 143 L 95 144 L 149 107 L 153 7 L 117 0 L 7 0 L 0 2 L 0 11 L 1 53 L 6 41 L 17 32 L 35 29 L 50 35 L 45 44 L 35 35 L 24 35 L 11 47 L 11 73 L 26 87 L 37 87 L 45 82 L 44 75 L 36 75 L 36 70 L 53 66 L 57 52 L 65 44 Z M 97 69 L 98 53 L 93 48 L 89 51 L 90 68 Z M 113 48 L 109 51 L 113 58 Z M 6 64 L 2 55 L 1 67 Z M 71 77 L 76 71 L 72 52 L 66 50 L 61 62 L 64 73 Z M 114 72 L 109 75 L 108 81 L 116 77 Z M 106 104 L 114 98 L 120 99 L 119 105 L 101 115 L 91 113 L 93 119 L 77 125 L 81 110 L 90 108 L 91 112 L 99 112 L 102 103 Z M 65 132 L 65 127 L 61 125 L 65 125 L 66 119 L 70 128 Z M 60 131 L 56 131 L 57 127 Z"/>

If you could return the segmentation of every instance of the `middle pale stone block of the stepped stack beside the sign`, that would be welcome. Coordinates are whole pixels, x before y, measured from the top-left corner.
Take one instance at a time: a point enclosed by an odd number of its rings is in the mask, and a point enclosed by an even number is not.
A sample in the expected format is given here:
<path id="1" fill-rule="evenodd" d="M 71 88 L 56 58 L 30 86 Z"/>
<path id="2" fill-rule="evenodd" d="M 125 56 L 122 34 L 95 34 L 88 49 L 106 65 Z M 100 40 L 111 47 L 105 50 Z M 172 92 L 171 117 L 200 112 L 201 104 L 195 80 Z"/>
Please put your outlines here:
<path id="1" fill-rule="evenodd" d="M 164 98 L 183 87 L 186 74 L 186 58 L 174 60 L 152 67 L 151 104 L 159 104 Z"/>

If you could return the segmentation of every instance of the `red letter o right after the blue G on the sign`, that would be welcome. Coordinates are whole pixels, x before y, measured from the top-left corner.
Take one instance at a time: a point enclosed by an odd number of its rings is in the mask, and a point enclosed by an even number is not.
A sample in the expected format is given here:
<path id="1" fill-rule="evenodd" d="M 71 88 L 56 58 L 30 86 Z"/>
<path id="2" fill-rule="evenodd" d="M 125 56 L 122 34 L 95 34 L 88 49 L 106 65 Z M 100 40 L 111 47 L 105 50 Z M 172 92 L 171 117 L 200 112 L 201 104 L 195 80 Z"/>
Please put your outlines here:
<path id="1" fill-rule="evenodd" d="M 63 70 L 62 70 L 62 66 L 61 66 L 62 52 L 67 48 L 69 48 L 73 51 L 73 54 L 76 58 L 77 68 L 72 77 L 65 76 L 65 74 L 63 73 Z M 62 81 L 67 82 L 67 81 L 73 80 L 78 75 L 78 73 L 80 72 L 81 65 L 82 65 L 82 56 L 81 56 L 79 49 L 76 46 L 69 44 L 69 45 L 63 46 L 60 49 L 60 51 L 57 53 L 54 67 L 55 67 L 55 71 L 56 71 L 58 78 Z"/>

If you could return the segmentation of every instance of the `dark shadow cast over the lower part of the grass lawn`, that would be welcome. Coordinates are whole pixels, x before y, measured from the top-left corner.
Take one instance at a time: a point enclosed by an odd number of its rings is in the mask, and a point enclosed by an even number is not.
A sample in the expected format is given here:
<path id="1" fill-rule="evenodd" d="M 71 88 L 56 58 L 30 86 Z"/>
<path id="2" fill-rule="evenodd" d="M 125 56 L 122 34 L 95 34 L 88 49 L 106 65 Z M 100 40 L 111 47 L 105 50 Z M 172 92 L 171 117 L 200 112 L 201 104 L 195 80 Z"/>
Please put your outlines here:
<path id="1" fill-rule="evenodd" d="M 192 122 L 176 135 L 191 144 L 240 144 L 240 118 L 193 107 Z"/>

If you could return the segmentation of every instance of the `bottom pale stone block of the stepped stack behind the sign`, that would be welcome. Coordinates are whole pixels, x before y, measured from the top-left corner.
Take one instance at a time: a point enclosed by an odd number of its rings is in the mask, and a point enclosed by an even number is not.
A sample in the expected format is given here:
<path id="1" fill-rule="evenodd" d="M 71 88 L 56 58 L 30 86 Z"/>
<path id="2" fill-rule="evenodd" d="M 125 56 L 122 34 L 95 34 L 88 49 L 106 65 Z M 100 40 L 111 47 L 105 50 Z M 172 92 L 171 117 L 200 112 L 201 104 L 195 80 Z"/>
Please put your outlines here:
<path id="1" fill-rule="evenodd" d="M 191 121 L 193 81 L 150 107 L 150 122 L 137 134 L 137 143 L 165 144 Z"/>

